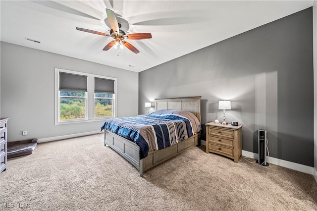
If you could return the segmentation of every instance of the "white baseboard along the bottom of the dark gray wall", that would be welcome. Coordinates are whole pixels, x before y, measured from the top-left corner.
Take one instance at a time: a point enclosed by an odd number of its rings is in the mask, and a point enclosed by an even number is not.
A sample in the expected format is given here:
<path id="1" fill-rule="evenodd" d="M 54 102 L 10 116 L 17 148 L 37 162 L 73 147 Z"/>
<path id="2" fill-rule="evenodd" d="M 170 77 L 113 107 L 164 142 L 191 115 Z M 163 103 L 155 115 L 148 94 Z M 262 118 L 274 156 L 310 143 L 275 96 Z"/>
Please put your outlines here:
<path id="1" fill-rule="evenodd" d="M 206 146 L 206 141 L 201 140 L 201 144 Z M 257 153 L 252 153 L 252 152 L 245 151 L 245 150 L 242 150 L 242 156 L 258 159 L 258 154 Z M 268 163 L 272 163 L 272 164 L 275 164 L 275 165 L 283 166 L 285 168 L 290 168 L 290 169 L 297 170 L 297 171 L 300 171 L 300 172 L 304 172 L 304 173 L 307 173 L 307 174 L 312 174 L 315 177 L 315 180 L 317 182 L 317 170 L 314 167 L 311 167 L 311 166 L 308 166 L 308 165 L 299 164 L 299 163 L 296 163 L 296 162 L 290 162 L 290 161 L 283 160 L 283 159 L 272 158 L 272 157 L 267 157 L 266 161 Z"/>

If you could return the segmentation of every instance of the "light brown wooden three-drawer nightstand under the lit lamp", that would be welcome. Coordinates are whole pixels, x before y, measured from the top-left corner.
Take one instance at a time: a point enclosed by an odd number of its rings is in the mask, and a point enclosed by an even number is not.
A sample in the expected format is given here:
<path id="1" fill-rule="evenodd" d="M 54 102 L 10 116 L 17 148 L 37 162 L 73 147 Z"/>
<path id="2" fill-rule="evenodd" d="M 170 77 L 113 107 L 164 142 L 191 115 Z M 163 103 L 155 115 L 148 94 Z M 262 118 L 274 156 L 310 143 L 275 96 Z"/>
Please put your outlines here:
<path id="1" fill-rule="evenodd" d="M 206 153 L 217 153 L 238 162 L 242 155 L 242 126 L 206 123 Z"/>

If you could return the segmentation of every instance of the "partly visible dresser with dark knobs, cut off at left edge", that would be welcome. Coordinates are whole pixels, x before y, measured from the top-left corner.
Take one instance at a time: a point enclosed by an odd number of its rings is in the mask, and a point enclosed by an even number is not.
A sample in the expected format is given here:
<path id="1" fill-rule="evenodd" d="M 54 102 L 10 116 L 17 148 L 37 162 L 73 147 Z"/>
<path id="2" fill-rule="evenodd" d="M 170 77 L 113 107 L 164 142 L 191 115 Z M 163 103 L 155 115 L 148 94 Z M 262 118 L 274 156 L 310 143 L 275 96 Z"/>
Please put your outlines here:
<path id="1" fill-rule="evenodd" d="M 7 161 L 7 127 L 9 118 L 0 118 L 0 172 L 5 170 Z"/>

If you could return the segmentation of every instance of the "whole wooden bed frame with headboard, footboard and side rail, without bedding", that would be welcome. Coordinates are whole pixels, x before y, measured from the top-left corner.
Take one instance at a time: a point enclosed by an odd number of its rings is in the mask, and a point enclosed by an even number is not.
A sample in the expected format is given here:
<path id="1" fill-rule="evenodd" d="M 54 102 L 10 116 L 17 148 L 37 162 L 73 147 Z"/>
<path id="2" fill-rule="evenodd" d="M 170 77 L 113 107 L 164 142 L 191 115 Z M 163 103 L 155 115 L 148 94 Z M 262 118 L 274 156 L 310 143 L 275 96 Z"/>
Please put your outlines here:
<path id="1" fill-rule="evenodd" d="M 179 109 L 186 110 L 194 113 L 201 122 L 200 99 L 198 97 L 185 97 L 185 98 L 159 98 L 156 100 L 156 110 L 160 109 Z M 184 152 L 186 149 L 194 147 L 200 140 L 200 133 L 182 141 L 173 146 L 161 149 L 159 151 L 151 151 L 146 158 L 140 159 L 140 147 L 134 142 L 123 138 L 110 131 L 104 130 L 105 146 L 112 148 L 119 153 L 123 158 L 127 159 L 134 165 L 143 177 L 144 171 L 158 165 L 169 158 Z"/>

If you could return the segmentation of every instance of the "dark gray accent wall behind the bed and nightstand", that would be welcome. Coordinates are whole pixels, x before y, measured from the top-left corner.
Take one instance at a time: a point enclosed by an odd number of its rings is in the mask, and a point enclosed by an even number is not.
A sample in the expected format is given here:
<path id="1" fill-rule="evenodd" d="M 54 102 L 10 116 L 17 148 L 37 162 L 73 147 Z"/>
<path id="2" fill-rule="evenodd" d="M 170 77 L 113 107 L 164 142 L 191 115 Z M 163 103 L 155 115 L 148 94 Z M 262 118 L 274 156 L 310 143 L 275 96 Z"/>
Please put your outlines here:
<path id="1" fill-rule="evenodd" d="M 266 129 L 270 157 L 314 166 L 312 25 L 309 8 L 140 72 L 139 113 L 154 98 L 201 95 L 204 124 L 231 100 L 226 120 L 244 125 L 243 150 L 258 153 Z"/>

